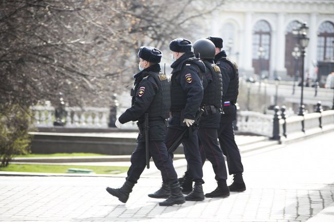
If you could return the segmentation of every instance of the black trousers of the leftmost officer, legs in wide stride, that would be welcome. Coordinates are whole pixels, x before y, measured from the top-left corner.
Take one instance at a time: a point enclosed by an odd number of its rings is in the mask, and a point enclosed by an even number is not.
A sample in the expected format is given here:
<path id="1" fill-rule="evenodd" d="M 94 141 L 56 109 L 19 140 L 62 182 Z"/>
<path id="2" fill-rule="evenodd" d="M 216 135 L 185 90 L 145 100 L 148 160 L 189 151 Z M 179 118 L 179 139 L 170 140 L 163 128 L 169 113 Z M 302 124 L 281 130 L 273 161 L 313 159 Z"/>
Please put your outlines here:
<path id="1" fill-rule="evenodd" d="M 168 184 L 177 182 L 177 174 L 173 166 L 173 159 L 168 153 L 163 141 L 150 141 L 150 157 L 160 170 L 162 179 Z M 137 183 L 146 167 L 145 142 L 138 142 L 136 150 L 131 155 L 131 167 L 127 171 L 126 180 Z"/>

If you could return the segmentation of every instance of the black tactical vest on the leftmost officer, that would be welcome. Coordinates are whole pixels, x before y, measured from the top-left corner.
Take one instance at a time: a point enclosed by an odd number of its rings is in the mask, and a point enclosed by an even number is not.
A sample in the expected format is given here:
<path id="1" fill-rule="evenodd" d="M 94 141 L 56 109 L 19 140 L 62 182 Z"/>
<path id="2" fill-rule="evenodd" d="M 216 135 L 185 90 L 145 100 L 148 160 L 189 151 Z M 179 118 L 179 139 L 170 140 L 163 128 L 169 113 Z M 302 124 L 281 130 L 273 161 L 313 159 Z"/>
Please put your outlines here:
<path id="1" fill-rule="evenodd" d="M 157 86 L 158 91 L 150 105 L 150 107 L 147 109 L 147 113 L 149 113 L 149 119 L 150 120 L 156 120 L 159 119 L 157 117 L 161 117 L 162 119 L 169 118 L 170 113 L 170 107 L 171 107 L 171 94 L 170 94 L 170 86 L 168 79 L 162 72 L 146 72 L 149 76 L 148 78 L 154 78 Z M 145 73 L 145 74 L 146 74 Z M 149 80 L 141 80 L 141 81 L 149 81 Z M 138 85 L 135 86 L 135 92 L 138 90 Z M 134 98 L 133 97 L 133 102 Z"/>

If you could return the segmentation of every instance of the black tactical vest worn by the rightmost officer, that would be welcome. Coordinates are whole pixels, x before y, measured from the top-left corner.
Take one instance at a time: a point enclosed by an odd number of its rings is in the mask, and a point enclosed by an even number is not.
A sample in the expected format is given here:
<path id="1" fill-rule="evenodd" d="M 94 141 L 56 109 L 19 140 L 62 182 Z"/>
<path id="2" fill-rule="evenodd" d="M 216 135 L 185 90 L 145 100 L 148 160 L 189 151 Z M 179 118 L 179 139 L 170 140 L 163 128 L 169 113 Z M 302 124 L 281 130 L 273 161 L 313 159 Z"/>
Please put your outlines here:
<path id="1" fill-rule="evenodd" d="M 224 101 L 230 101 L 231 103 L 235 104 L 236 100 L 238 99 L 238 94 L 239 94 L 238 65 L 226 57 L 222 57 L 219 60 L 227 62 L 233 69 L 234 75 L 233 75 L 233 78 L 230 79 L 229 87 L 226 90 Z"/>

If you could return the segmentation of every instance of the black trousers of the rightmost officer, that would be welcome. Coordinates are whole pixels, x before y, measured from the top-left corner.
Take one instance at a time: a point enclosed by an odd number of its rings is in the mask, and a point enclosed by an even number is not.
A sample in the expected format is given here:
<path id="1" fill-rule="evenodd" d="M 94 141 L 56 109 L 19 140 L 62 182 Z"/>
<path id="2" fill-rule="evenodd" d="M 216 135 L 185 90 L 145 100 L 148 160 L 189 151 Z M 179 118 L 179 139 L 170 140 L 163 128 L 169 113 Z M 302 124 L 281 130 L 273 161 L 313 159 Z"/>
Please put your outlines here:
<path id="1" fill-rule="evenodd" d="M 227 121 L 230 120 L 230 121 Z M 243 163 L 241 162 L 241 156 L 237 144 L 234 139 L 233 130 L 233 118 L 228 116 L 221 116 L 220 126 L 218 129 L 219 143 L 222 153 L 227 158 L 227 165 L 229 168 L 229 174 L 238 174 L 244 172 Z"/>

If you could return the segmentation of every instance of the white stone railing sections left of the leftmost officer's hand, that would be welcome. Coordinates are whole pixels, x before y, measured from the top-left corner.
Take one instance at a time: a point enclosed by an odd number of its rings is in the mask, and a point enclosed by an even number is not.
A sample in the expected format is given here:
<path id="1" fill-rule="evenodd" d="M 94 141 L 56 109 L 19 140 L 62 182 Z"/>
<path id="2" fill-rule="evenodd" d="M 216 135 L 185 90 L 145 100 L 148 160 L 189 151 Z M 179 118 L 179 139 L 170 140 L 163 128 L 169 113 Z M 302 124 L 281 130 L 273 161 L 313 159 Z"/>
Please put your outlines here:
<path id="1" fill-rule="evenodd" d="M 32 122 L 38 127 L 52 127 L 54 107 L 31 106 Z M 107 128 L 109 108 L 104 107 L 65 107 L 65 127 Z"/>

